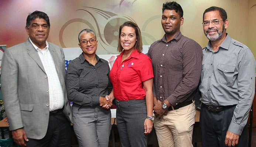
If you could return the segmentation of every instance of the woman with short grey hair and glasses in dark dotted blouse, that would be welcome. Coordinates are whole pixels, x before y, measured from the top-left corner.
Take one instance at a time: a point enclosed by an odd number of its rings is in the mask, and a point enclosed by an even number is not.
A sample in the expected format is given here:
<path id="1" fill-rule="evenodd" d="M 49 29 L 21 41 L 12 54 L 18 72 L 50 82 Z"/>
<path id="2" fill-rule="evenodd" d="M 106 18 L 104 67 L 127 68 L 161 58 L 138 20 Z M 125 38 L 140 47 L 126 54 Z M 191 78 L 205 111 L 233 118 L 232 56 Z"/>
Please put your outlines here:
<path id="1" fill-rule="evenodd" d="M 96 55 L 98 40 L 91 29 L 83 29 L 78 40 L 83 53 L 68 64 L 66 71 L 75 134 L 79 147 L 108 147 L 112 103 L 105 96 L 112 90 L 109 65 Z"/>

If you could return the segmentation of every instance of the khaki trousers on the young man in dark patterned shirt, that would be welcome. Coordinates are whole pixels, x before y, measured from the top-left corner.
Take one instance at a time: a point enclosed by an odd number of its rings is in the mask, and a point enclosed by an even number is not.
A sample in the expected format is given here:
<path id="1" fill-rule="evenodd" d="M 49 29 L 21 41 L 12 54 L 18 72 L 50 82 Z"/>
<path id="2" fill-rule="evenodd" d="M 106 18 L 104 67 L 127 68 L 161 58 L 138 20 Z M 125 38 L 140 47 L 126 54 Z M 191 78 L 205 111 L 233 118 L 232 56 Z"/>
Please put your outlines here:
<path id="1" fill-rule="evenodd" d="M 156 118 L 154 128 L 159 147 L 193 147 L 192 134 L 195 123 L 195 103 L 168 111 Z"/>

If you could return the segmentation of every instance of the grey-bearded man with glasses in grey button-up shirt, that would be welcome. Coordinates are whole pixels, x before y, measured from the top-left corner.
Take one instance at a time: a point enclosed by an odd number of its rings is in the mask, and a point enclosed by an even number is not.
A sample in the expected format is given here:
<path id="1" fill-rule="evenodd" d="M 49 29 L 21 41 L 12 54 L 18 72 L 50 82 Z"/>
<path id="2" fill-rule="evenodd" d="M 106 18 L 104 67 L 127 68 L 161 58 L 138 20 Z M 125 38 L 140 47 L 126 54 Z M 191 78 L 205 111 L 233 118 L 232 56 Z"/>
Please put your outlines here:
<path id="1" fill-rule="evenodd" d="M 199 85 L 202 145 L 245 147 L 255 93 L 255 58 L 247 46 L 226 33 L 229 22 L 222 8 L 206 9 L 202 24 L 209 39 Z"/>

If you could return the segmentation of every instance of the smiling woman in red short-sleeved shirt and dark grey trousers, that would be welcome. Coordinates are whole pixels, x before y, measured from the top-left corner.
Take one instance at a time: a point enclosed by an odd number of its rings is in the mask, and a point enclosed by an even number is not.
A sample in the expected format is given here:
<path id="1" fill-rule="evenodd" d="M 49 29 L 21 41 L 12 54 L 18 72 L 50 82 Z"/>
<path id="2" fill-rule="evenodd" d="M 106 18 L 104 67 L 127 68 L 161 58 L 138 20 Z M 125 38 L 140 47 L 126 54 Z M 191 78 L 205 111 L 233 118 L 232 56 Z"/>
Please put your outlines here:
<path id="1" fill-rule="evenodd" d="M 117 56 L 109 73 L 113 85 L 106 98 L 116 99 L 117 128 L 122 147 L 147 147 L 147 134 L 153 127 L 153 68 L 141 53 L 140 29 L 134 22 L 119 28 Z"/>

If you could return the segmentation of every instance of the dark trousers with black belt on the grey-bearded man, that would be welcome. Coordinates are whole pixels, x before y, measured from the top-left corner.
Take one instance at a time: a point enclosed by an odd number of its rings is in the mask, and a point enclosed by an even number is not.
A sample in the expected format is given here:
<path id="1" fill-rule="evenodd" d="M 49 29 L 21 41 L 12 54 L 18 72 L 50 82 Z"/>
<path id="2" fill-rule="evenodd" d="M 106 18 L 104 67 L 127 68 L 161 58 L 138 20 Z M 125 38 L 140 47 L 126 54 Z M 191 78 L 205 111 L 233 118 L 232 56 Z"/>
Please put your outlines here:
<path id="1" fill-rule="evenodd" d="M 211 112 L 204 105 L 200 111 L 200 129 L 203 147 L 225 147 L 225 137 L 235 106 L 220 112 Z M 247 125 L 239 137 L 236 147 L 247 147 Z"/>

